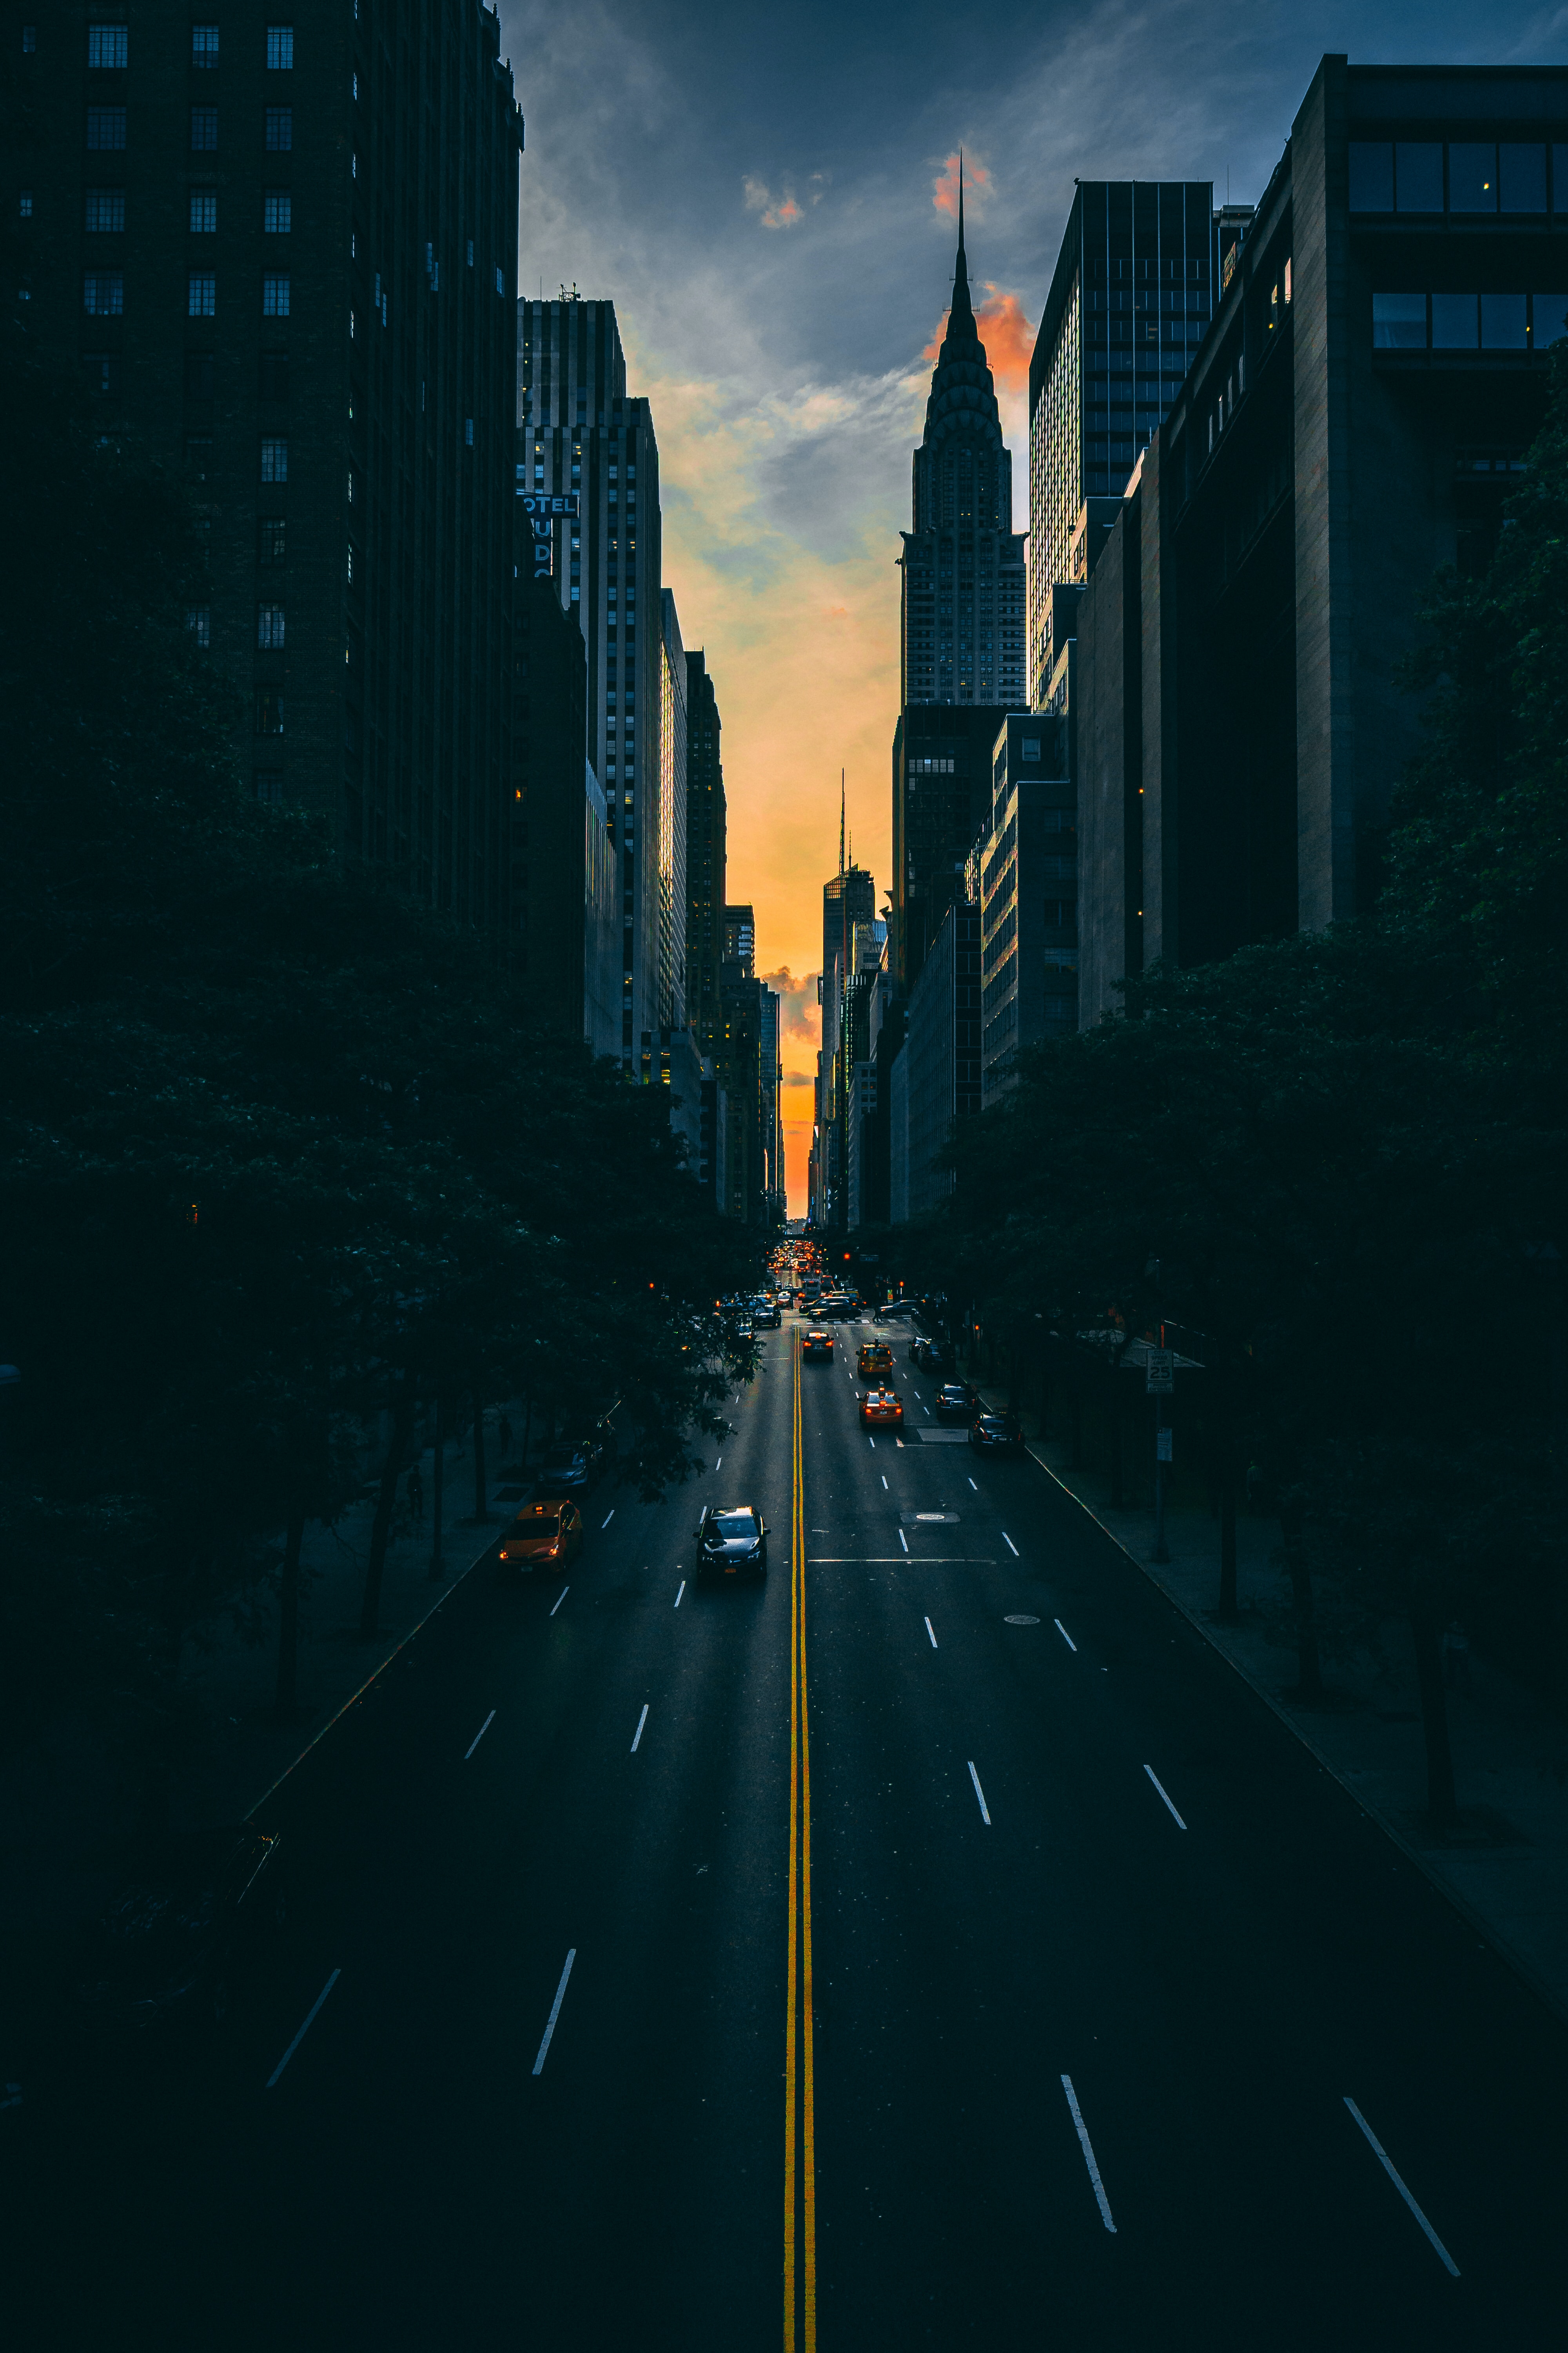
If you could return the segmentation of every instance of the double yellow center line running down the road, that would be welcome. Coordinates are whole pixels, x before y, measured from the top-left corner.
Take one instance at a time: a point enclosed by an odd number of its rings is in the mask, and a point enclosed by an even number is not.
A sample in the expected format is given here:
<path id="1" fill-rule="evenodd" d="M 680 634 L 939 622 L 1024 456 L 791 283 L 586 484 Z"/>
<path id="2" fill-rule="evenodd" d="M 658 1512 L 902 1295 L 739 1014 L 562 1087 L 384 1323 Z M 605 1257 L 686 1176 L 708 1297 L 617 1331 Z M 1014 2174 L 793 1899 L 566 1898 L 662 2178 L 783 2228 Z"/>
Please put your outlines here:
<path id="1" fill-rule="evenodd" d="M 811 2052 L 811 1722 L 806 1715 L 806 1508 L 795 1334 L 790 1537 L 790 2017 L 785 2024 L 785 2353 L 816 2353 L 816 2092 Z"/>

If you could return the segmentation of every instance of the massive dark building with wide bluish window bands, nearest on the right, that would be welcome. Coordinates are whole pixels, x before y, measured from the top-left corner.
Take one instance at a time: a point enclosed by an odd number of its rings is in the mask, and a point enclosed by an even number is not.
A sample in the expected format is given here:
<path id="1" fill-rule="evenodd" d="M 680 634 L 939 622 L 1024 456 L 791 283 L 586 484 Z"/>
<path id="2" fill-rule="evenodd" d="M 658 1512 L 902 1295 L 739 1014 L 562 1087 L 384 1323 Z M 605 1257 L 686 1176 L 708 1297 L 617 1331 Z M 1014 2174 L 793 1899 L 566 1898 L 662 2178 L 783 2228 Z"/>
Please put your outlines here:
<path id="1" fill-rule="evenodd" d="M 1079 614 L 1081 1014 L 1378 889 L 1427 581 L 1568 313 L 1568 68 L 1326 56 Z"/>

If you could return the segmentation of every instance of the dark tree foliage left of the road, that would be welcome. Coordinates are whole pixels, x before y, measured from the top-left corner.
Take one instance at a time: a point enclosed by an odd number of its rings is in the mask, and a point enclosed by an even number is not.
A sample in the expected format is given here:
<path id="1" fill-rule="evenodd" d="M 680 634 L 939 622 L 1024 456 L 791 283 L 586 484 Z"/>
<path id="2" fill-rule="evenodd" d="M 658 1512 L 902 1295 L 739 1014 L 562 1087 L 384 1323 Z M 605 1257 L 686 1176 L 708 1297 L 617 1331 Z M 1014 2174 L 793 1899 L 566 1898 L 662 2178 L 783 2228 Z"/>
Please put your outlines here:
<path id="1" fill-rule="evenodd" d="M 186 628 L 202 518 L 12 344 L 0 555 L 0 1678 L 167 1718 L 259 1539 L 409 1391 L 621 1398 L 654 1494 L 715 1428 L 693 1318 L 755 1249 L 665 1101 L 538 1035 L 494 944 L 256 807 Z M 712 1322 L 705 1322 L 712 1329 Z M 162 1711 L 162 1718 L 160 1718 Z"/>

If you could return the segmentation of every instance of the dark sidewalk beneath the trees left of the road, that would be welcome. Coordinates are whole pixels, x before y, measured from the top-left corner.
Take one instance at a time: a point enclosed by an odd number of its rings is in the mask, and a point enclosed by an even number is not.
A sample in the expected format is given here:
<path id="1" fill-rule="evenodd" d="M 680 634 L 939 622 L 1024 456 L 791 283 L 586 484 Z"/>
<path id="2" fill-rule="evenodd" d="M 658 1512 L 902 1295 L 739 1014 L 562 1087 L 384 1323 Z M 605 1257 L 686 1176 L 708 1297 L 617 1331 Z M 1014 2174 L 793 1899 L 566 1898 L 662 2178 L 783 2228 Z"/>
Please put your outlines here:
<path id="1" fill-rule="evenodd" d="M 491 1431 L 491 1445 L 498 1442 Z M 517 1511 L 527 1480 L 515 1464 L 489 1473 L 489 1518 L 473 1520 L 473 1438 L 447 1445 L 442 1508 L 442 1577 L 430 1577 L 435 1452 L 421 1457 L 425 1515 L 393 1518 L 386 1553 L 378 1631 L 360 1633 L 364 1565 L 378 1480 L 367 1478 L 336 1527 L 310 1522 L 301 1551 L 299 1713 L 280 1722 L 277 1595 L 266 1577 L 244 1612 L 221 1614 L 186 1642 L 179 1697 L 200 1720 L 202 1746 L 181 1765 L 174 1828 L 242 1819 L 306 1753 L 339 1711 L 430 1617 L 447 1593 L 484 1558 Z M 400 1478 L 400 1497 L 407 1473 Z M 61 1720 L 45 1741 L 7 1760 L 0 1772 L 0 1911 L 7 1920 L 12 1965 L 40 1951 L 68 1922 L 92 1918 L 113 1889 L 132 1831 L 125 1781 L 99 1727 Z M 0 1993 L 9 1972 L 0 1969 Z"/>

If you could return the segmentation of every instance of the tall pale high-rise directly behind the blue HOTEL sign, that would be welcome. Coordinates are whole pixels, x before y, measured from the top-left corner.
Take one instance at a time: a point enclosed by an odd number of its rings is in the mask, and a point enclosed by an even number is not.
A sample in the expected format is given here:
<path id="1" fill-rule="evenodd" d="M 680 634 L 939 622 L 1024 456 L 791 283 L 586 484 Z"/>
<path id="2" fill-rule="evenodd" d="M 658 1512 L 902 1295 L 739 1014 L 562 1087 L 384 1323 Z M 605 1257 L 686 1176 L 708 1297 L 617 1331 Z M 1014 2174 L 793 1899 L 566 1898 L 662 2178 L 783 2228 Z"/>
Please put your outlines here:
<path id="1" fill-rule="evenodd" d="M 562 294 L 517 304 L 517 489 L 576 496 L 576 515 L 562 525 L 559 600 L 588 647 L 588 758 L 604 786 L 621 880 L 621 1061 L 651 1078 L 644 1040 L 670 1002 L 668 986 L 661 993 L 670 967 L 658 442 L 646 400 L 628 398 L 611 301 Z"/>

